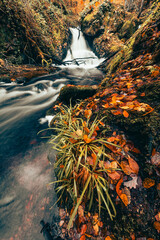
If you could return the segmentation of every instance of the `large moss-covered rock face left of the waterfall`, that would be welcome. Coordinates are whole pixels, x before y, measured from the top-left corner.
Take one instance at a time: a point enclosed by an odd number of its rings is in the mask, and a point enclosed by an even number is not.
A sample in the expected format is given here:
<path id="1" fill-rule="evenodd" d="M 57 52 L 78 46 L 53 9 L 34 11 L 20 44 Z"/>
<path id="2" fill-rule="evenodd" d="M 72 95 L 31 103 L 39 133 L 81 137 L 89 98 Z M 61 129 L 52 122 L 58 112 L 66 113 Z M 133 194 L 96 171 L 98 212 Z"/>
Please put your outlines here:
<path id="1" fill-rule="evenodd" d="M 14 64 L 60 63 L 69 30 L 63 1 L 0 0 L 0 58 Z"/>

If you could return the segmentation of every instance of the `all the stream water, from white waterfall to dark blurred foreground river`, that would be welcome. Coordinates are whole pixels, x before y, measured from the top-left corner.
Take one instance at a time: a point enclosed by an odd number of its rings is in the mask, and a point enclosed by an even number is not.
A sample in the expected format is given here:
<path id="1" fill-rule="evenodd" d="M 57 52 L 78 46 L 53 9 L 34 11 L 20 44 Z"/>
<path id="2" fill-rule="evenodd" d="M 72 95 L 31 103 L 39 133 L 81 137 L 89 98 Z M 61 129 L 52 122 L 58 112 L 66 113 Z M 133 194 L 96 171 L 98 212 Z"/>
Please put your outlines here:
<path id="1" fill-rule="evenodd" d="M 40 221 L 58 217 L 54 187 L 47 187 L 55 179 L 47 157 L 54 159 L 55 153 L 37 133 L 47 128 L 46 111 L 64 85 L 95 85 L 103 78 L 96 68 L 103 59 L 91 51 L 81 31 L 71 32 L 66 66 L 57 73 L 28 84 L 0 82 L 1 240 L 42 240 Z"/>

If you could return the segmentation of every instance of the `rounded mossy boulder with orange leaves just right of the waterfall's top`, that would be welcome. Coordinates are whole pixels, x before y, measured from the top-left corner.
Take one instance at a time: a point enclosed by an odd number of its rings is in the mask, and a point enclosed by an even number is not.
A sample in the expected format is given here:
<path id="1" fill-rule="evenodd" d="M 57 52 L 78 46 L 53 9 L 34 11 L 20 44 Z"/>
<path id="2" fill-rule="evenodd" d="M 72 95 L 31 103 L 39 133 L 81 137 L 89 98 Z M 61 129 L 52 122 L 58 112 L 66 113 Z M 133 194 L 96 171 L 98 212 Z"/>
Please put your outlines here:
<path id="1" fill-rule="evenodd" d="M 90 4 L 81 14 L 82 31 L 91 38 L 89 43 L 99 57 L 112 55 L 124 45 L 118 36 L 124 22 L 123 6 L 110 1 L 104 1 L 98 7 Z"/>

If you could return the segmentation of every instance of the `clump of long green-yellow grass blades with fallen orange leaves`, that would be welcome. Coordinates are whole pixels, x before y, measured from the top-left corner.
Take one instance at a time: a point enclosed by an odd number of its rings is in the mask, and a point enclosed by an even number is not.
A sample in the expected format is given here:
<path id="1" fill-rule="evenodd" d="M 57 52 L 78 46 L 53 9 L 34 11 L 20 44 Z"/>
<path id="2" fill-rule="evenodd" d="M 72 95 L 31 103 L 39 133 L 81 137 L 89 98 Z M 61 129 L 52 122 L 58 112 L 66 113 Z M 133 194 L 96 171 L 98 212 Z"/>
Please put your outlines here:
<path id="1" fill-rule="evenodd" d="M 108 142 L 101 132 L 102 119 L 91 121 L 91 111 L 86 112 L 86 121 L 75 115 L 72 107 L 60 106 L 60 112 L 55 116 L 53 128 L 56 135 L 50 139 L 52 148 L 57 154 L 55 171 L 57 176 L 56 191 L 59 199 L 69 195 L 73 201 L 74 210 L 68 229 L 76 216 L 80 204 L 85 204 L 87 211 L 92 208 L 105 207 L 111 219 L 116 216 L 114 204 L 109 195 L 108 169 L 105 159 L 112 158 L 111 147 L 120 146 Z M 105 130 L 106 131 L 106 130 Z M 113 159 L 112 159 L 113 160 Z M 120 169 L 111 169 L 115 171 Z M 95 198 L 98 201 L 95 201 Z"/>

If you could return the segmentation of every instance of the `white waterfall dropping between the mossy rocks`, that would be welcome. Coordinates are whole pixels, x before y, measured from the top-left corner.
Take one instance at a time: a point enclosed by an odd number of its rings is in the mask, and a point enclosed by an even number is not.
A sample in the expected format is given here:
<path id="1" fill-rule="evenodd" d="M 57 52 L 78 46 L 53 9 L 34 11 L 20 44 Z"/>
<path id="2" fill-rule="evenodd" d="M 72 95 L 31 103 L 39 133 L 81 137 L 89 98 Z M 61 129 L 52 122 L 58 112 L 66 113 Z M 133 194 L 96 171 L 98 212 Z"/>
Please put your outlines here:
<path id="1" fill-rule="evenodd" d="M 75 65 L 87 68 L 94 68 L 104 61 L 99 59 L 87 44 L 82 31 L 77 28 L 70 28 L 72 43 L 64 59 L 66 65 Z"/>

